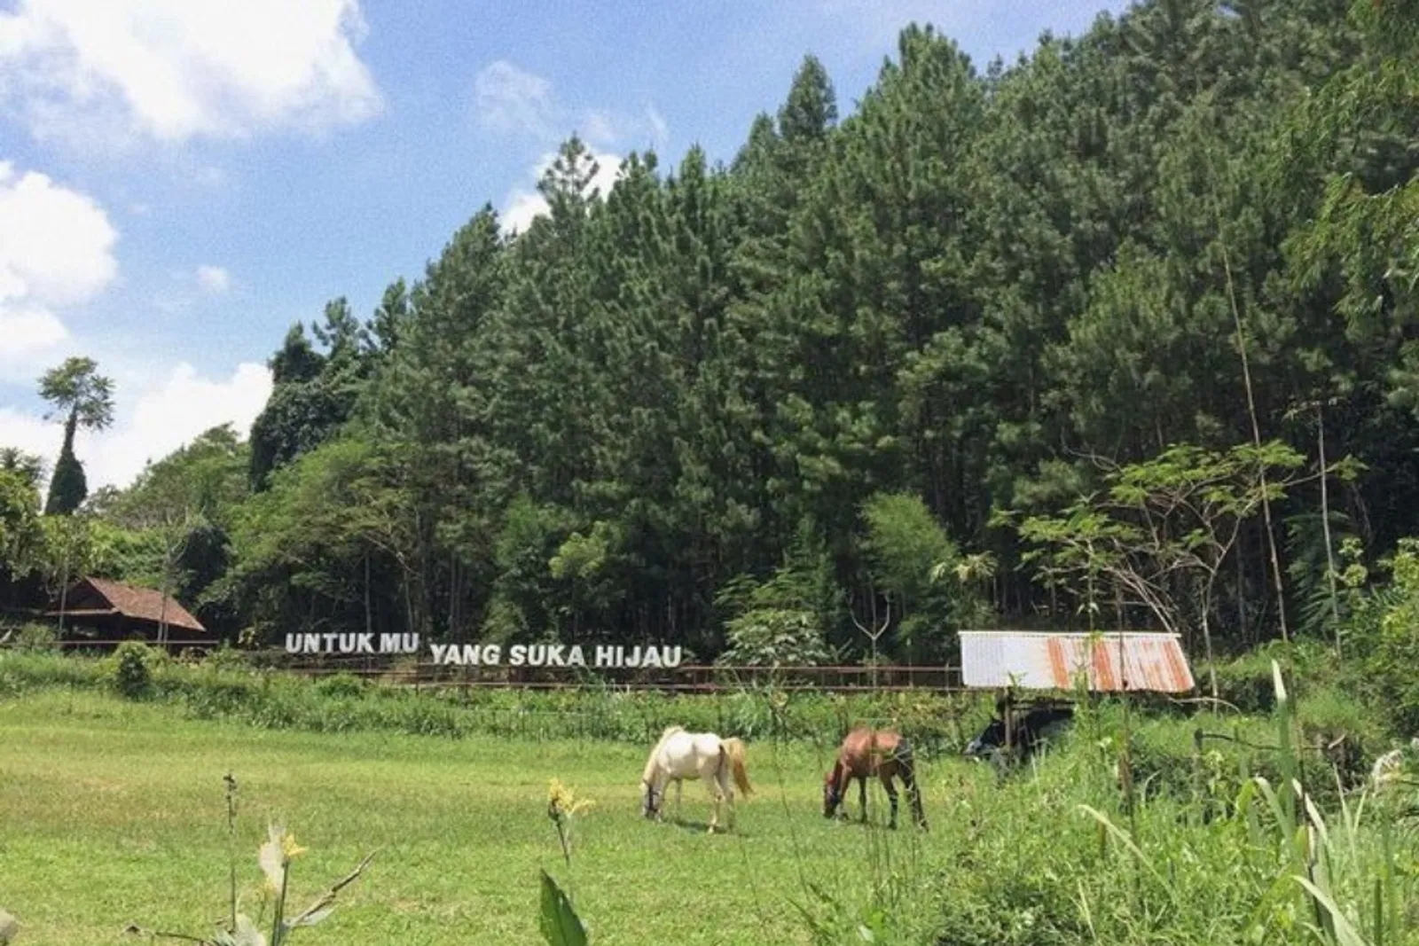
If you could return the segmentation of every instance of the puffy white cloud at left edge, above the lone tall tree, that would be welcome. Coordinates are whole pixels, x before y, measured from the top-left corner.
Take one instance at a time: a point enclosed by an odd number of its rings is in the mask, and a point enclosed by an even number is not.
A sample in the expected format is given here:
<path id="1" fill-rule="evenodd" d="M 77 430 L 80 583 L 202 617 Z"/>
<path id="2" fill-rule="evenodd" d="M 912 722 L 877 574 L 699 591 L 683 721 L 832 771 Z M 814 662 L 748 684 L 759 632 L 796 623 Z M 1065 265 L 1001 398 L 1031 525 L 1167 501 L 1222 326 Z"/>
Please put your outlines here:
<path id="1" fill-rule="evenodd" d="M 88 196 L 0 162 L 0 380 L 34 383 L 64 353 L 53 311 L 87 302 L 118 275 L 118 231 Z"/>

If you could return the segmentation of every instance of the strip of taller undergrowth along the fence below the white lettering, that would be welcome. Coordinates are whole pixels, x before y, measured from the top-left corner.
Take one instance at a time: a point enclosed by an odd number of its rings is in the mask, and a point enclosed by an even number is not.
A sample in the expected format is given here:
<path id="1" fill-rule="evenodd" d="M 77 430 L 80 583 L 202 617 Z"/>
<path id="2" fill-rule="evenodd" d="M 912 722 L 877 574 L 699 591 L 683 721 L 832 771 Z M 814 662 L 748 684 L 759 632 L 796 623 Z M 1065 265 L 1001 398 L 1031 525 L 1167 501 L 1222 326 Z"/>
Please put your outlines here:
<path id="1" fill-rule="evenodd" d="M 631 692 L 612 686 L 553 692 L 386 685 L 350 674 L 304 678 L 213 655 L 179 662 L 139 642 L 108 658 L 14 651 L 0 655 L 0 696 L 41 688 L 109 689 L 180 705 L 197 719 L 268 729 L 393 730 L 461 738 L 654 742 L 671 725 L 836 742 L 856 722 L 894 725 L 927 750 L 959 752 L 989 719 L 979 695 L 934 691 L 824 695 L 744 688 L 718 695 Z"/>

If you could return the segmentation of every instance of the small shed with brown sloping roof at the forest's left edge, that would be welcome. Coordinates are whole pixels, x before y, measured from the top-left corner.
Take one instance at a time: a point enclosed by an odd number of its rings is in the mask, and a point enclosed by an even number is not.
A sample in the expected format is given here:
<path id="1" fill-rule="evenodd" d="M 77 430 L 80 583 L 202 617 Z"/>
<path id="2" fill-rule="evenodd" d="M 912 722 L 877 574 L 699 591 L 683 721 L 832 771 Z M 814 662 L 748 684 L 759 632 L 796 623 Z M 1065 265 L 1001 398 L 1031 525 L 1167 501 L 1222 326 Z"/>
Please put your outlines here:
<path id="1" fill-rule="evenodd" d="M 45 617 L 58 618 L 58 601 Z M 206 642 L 207 628 L 172 594 L 109 579 L 84 577 L 70 586 L 64 599 L 65 628 L 84 630 L 101 641 L 126 638 L 158 640 L 162 624 L 173 642 Z"/>

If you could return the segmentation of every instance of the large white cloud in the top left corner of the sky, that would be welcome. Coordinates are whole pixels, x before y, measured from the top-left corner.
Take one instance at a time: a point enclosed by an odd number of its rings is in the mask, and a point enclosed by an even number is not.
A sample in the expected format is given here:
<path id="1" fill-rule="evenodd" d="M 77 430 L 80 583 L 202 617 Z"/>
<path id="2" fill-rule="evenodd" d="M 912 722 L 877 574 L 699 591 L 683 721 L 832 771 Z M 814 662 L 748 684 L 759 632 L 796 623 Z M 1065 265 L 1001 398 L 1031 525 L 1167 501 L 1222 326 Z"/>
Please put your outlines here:
<path id="1" fill-rule="evenodd" d="M 0 92 L 40 136 L 318 130 L 377 113 L 359 0 L 18 0 Z"/>

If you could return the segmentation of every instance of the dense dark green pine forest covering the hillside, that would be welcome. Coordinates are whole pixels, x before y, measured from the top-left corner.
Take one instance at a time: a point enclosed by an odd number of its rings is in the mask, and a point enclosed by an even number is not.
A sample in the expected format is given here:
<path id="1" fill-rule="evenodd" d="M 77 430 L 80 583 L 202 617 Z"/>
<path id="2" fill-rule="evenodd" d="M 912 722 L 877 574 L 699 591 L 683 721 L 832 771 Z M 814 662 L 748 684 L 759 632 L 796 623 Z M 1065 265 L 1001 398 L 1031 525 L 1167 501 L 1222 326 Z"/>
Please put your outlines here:
<path id="1" fill-rule="evenodd" d="M 250 444 L 104 516 L 182 532 L 167 580 L 258 638 L 792 664 L 890 607 L 937 661 L 964 621 L 1088 624 L 1080 567 L 1209 645 L 1324 633 L 1334 549 L 1419 533 L 1412 13 L 1145 0 L 983 69 L 910 26 L 850 113 L 806 57 L 728 165 L 597 193 L 573 138 L 524 233 L 474 208 L 369 318 L 292 326 Z M 1139 600 L 1158 569 L 1185 606 Z"/>

